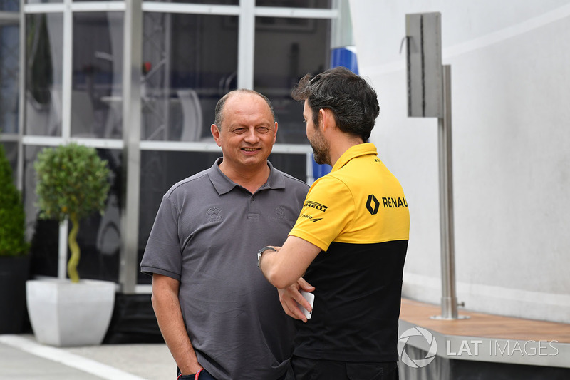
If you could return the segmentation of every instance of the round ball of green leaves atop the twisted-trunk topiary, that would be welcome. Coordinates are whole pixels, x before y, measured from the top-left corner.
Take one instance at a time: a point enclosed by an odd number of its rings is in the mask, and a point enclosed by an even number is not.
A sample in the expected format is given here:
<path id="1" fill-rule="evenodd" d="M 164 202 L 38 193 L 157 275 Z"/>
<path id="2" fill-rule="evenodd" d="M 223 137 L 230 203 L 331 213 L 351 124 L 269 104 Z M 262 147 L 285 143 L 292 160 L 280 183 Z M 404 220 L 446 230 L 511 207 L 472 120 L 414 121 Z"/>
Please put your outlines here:
<path id="1" fill-rule="evenodd" d="M 71 215 L 81 220 L 95 211 L 103 213 L 109 168 L 95 148 L 76 143 L 44 148 L 33 167 L 41 218 L 62 222 Z"/>

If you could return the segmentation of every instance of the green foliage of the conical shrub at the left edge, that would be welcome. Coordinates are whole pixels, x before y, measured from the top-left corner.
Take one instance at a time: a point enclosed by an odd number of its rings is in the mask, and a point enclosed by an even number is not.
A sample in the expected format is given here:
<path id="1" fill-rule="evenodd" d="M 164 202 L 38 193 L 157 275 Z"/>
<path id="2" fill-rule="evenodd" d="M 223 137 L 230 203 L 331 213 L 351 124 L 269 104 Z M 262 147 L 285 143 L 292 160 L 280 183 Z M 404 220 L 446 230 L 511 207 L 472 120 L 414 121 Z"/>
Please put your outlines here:
<path id="1" fill-rule="evenodd" d="M 0 144 L 0 256 L 28 253 L 26 215 L 20 192 L 14 186 L 12 168 Z"/>

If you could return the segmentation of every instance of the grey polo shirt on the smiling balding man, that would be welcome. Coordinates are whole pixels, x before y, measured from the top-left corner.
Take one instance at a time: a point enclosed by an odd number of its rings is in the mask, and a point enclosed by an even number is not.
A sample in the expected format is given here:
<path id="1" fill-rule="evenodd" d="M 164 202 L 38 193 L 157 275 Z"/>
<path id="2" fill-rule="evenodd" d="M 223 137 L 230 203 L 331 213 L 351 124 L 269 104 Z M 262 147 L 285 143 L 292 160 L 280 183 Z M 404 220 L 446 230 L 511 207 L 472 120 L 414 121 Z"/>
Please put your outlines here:
<path id="1" fill-rule="evenodd" d="M 256 253 L 285 242 L 309 186 L 268 162 L 269 179 L 252 194 L 219 170 L 221 162 L 168 190 L 140 268 L 180 281 L 182 317 L 210 374 L 277 379 L 291 356 L 294 327 Z"/>

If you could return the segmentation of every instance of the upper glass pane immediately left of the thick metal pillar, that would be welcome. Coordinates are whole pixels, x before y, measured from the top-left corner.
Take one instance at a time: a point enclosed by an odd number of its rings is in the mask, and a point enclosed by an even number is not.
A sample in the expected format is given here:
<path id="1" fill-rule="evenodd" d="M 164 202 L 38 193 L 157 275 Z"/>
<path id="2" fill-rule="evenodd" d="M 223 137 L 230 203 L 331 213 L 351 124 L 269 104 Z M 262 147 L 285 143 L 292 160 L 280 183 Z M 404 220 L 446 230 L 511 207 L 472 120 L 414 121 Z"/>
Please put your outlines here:
<path id="1" fill-rule="evenodd" d="M 123 136 L 123 12 L 73 14 L 71 135 Z"/>

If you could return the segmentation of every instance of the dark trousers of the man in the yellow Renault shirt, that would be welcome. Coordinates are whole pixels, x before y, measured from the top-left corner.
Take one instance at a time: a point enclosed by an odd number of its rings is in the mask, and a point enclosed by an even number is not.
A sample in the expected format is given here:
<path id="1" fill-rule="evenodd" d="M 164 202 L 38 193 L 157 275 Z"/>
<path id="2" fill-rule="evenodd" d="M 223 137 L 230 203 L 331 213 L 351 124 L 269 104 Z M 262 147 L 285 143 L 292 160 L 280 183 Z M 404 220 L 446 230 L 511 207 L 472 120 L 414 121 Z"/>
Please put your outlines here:
<path id="1" fill-rule="evenodd" d="M 293 356 L 296 380 L 398 380 L 398 362 L 352 363 Z"/>

